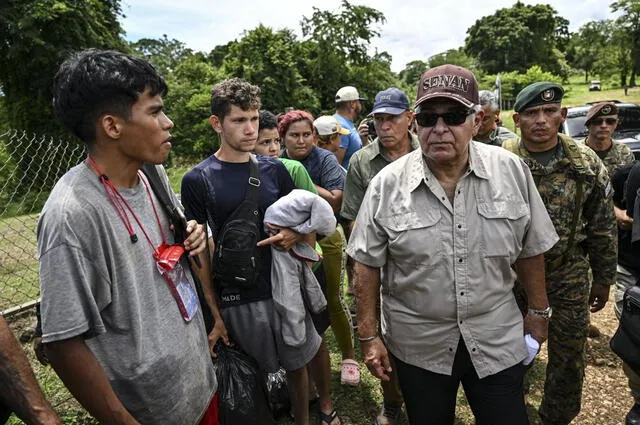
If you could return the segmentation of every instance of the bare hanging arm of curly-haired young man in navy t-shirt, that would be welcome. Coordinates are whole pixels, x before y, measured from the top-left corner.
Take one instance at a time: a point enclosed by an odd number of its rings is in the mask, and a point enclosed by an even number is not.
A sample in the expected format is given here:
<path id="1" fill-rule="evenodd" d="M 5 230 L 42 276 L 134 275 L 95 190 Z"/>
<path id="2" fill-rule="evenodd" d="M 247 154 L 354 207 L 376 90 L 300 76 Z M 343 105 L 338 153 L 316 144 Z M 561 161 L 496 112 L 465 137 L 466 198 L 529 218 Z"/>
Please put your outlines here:
<path id="1" fill-rule="evenodd" d="M 229 334 L 227 332 L 227 327 L 224 325 L 224 321 L 222 320 L 222 315 L 220 314 L 220 310 L 218 309 L 218 303 L 216 296 L 213 292 L 213 280 L 211 273 L 211 254 L 209 252 L 209 248 L 211 252 L 213 252 L 214 242 L 212 238 L 209 238 L 208 243 L 204 247 L 204 249 L 198 254 L 200 258 L 200 266 L 196 264 L 193 257 L 189 260 L 191 261 L 191 270 L 195 273 L 196 277 L 200 281 L 200 285 L 202 287 L 202 294 L 204 295 L 204 299 L 211 310 L 211 314 L 213 316 L 213 329 L 209 333 L 209 352 L 211 353 L 211 357 L 218 357 L 218 355 L 214 351 L 214 347 L 218 339 L 222 338 L 222 341 L 229 345 Z"/>

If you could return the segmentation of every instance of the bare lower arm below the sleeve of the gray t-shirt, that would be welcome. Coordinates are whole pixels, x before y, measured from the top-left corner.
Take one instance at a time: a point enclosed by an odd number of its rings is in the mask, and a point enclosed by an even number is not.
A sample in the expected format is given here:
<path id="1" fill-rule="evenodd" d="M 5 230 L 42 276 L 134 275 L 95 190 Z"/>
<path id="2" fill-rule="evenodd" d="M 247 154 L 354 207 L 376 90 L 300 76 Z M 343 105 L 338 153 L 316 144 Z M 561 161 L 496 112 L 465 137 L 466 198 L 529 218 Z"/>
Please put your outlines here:
<path id="1" fill-rule="evenodd" d="M 71 394 L 100 423 L 139 425 L 118 399 L 82 337 L 47 343 L 45 351 Z"/>

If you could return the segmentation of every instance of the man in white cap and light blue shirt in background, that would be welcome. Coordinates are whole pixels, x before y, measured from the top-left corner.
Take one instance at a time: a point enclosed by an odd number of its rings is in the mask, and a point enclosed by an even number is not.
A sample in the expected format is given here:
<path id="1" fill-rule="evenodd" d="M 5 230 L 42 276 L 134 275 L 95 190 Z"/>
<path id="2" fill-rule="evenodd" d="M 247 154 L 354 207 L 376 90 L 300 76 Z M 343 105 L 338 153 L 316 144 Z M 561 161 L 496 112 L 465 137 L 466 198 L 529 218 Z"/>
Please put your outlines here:
<path id="1" fill-rule="evenodd" d="M 342 87 L 336 93 L 336 113 L 333 115 L 349 134 L 340 136 L 340 147 L 335 152 L 338 162 L 345 169 L 349 168 L 351 156 L 362 147 L 362 140 L 353 121 L 360 115 L 365 98 L 360 97 L 358 90 L 352 86 Z"/>

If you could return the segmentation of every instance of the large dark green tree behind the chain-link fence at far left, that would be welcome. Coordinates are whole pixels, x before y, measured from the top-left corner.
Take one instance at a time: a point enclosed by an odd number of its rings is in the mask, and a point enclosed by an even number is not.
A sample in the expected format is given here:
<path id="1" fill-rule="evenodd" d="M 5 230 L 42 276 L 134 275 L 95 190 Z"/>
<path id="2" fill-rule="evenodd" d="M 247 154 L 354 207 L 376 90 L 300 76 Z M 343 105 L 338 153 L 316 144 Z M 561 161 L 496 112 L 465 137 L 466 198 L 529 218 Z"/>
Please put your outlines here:
<path id="1" fill-rule="evenodd" d="M 119 0 L 0 3 L 0 87 L 10 127 L 39 135 L 63 133 L 51 106 L 53 77 L 71 52 L 88 47 L 125 49 L 119 15 Z M 19 152 L 9 150 L 25 172 L 37 156 L 34 143 Z M 61 161 L 58 157 L 41 160 L 44 168 Z M 37 181 L 29 183 L 40 187 L 45 184 L 44 177 L 38 174 Z"/>

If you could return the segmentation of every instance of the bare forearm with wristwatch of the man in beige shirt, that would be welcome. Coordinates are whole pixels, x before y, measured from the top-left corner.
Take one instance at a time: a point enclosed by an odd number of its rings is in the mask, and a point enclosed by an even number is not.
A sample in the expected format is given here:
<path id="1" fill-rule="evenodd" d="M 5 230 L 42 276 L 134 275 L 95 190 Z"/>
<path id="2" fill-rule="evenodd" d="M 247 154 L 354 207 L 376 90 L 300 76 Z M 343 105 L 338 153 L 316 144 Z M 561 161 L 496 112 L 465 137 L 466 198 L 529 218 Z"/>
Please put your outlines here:
<path id="1" fill-rule="evenodd" d="M 529 308 L 544 310 L 549 306 L 544 280 L 544 256 L 542 254 L 516 260 L 518 280 L 527 293 Z M 542 344 L 547 340 L 548 321 L 530 313 L 524 318 L 524 332 Z"/>

